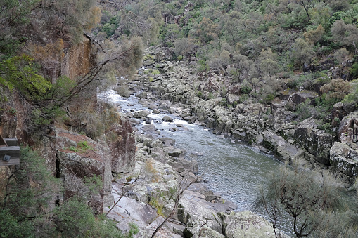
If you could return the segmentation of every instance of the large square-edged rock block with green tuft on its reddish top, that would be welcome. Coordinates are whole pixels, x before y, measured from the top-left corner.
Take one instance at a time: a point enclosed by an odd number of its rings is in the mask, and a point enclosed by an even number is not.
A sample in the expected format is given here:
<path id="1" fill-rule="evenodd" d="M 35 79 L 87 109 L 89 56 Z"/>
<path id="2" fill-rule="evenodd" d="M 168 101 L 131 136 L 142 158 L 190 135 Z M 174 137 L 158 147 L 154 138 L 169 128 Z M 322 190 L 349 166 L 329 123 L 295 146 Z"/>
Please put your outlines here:
<path id="1" fill-rule="evenodd" d="M 61 128 L 56 128 L 55 136 L 55 147 L 58 152 L 56 176 L 64 178 L 64 199 L 75 195 L 84 197 L 96 213 L 102 213 L 103 206 L 112 203 L 109 148 L 85 135 Z M 85 177 L 90 178 L 94 175 L 100 176 L 103 181 L 101 193 L 92 192 L 84 183 Z"/>

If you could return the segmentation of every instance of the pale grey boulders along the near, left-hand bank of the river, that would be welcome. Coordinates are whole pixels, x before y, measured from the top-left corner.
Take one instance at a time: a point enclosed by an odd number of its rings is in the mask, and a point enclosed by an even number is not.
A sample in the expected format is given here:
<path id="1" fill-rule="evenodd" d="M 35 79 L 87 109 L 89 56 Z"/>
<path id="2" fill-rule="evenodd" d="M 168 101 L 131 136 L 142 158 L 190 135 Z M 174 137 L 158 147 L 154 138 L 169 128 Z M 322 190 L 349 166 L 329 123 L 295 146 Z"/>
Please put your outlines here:
<path id="1" fill-rule="evenodd" d="M 108 216 L 117 221 L 117 227 L 127 232 L 129 224 L 135 223 L 140 230 L 136 237 L 151 237 L 172 212 L 178 187 L 183 182 L 195 182 L 184 191 L 174 215 L 156 237 L 243 237 L 248 234 L 274 237 L 267 220 L 250 211 L 234 212 L 236 204 L 208 190 L 198 177 L 197 162 L 184 159 L 186 152 L 175 147 L 175 141 L 161 135 L 151 123 L 152 120 L 173 121 L 169 116 L 156 119 L 155 113 L 179 112 L 181 108 L 171 107 L 170 102 L 145 99 L 139 103 L 143 105 L 141 110 L 127 110 L 126 115 L 121 116 L 122 121 L 127 121 L 124 124 L 137 125 L 134 170 L 113 173 L 112 194 L 114 202 L 119 202 L 111 211 L 114 203 L 104 209 L 110 211 Z M 123 112 L 122 106 L 118 104 L 117 110 Z M 186 130 L 182 124 L 172 124 L 168 129 Z"/>

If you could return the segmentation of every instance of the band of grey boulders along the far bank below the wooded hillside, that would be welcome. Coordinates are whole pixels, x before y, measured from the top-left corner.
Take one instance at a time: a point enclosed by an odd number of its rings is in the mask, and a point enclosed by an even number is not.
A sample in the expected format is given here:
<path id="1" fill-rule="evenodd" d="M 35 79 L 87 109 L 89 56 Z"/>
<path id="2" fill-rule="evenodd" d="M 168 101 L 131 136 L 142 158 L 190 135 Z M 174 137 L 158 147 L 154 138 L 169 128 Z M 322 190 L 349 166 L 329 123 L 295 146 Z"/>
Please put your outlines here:
<path id="1" fill-rule="evenodd" d="M 314 99 L 314 92 L 285 92 L 270 105 L 252 103 L 243 98 L 238 85 L 219 72 L 197 73 L 193 62 L 167 61 L 160 51 L 148 55 L 151 60 L 144 62 L 146 68 L 128 88 L 138 92 L 143 103 L 159 100 L 160 110 L 273 153 L 281 161 L 304 158 L 312 167 L 338 171 L 349 181 L 357 176 L 358 117 L 354 107 L 337 103 L 331 116 L 335 133 L 327 133 L 312 118 L 295 121 L 297 115 L 288 110 L 307 98 Z"/>

